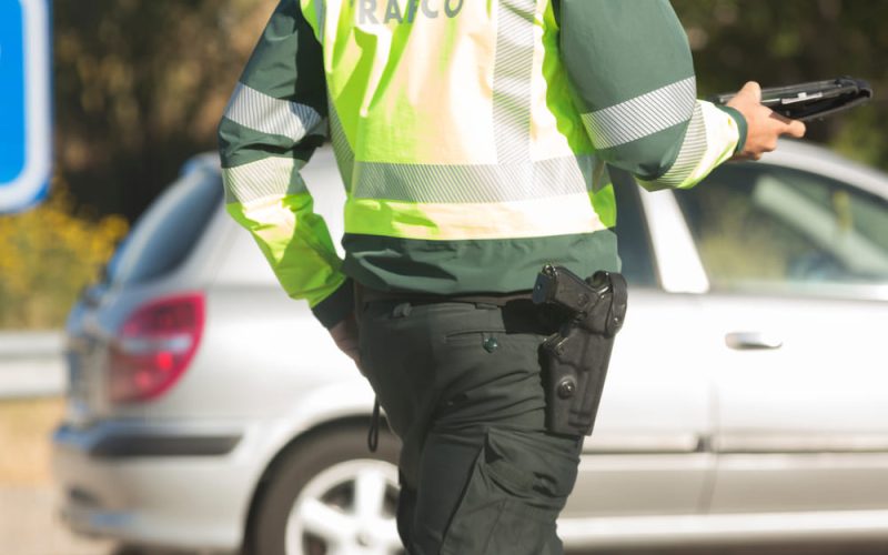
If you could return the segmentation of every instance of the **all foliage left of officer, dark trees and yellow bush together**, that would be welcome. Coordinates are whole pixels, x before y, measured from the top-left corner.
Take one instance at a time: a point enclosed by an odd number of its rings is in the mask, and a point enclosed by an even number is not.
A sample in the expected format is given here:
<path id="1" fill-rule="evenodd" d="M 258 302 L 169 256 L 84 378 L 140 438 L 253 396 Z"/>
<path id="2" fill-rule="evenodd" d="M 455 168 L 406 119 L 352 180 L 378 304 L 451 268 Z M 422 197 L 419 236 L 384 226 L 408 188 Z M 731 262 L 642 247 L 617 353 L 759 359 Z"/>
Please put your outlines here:
<path id="1" fill-rule="evenodd" d="M 128 221 L 185 160 L 215 149 L 220 114 L 274 3 L 54 2 L 53 193 L 0 218 L 0 329 L 62 325 Z"/>

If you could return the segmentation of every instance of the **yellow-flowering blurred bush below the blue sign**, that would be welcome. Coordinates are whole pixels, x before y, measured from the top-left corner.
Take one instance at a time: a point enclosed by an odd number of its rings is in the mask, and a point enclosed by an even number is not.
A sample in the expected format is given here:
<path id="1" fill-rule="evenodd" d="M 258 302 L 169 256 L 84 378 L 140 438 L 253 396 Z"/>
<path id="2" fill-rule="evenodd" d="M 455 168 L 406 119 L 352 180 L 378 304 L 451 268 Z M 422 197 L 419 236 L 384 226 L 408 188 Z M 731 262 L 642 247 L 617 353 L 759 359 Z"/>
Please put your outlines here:
<path id="1" fill-rule="evenodd" d="M 77 210 L 54 185 L 40 206 L 0 218 L 0 329 L 60 326 L 129 229 L 122 216 Z"/>

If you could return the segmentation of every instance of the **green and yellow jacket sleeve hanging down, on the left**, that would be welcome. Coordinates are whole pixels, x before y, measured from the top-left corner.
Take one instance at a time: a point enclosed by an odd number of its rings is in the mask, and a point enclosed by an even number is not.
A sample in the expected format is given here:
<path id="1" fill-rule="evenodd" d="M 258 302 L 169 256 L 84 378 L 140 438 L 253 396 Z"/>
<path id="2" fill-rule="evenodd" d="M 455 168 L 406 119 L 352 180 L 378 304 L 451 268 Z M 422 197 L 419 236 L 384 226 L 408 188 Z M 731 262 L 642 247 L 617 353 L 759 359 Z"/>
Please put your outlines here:
<path id="1" fill-rule="evenodd" d="M 321 46 L 299 2 L 281 0 L 219 125 L 225 203 L 286 293 L 331 327 L 351 312 L 352 286 L 300 175 L 326 115 Z"/>

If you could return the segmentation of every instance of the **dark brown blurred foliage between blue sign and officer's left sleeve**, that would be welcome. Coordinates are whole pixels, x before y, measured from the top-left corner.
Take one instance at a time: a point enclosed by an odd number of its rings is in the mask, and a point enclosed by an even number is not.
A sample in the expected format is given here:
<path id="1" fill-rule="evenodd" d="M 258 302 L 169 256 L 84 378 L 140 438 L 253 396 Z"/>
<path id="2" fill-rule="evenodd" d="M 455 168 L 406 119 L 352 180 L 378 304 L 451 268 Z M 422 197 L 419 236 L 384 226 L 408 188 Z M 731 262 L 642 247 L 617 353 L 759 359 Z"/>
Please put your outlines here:
<path id="1" fill-rule="evenodd" d="M 273 0 L 90 0 L 53 7 L 57 171 L 132 220 L 215 128 Z"/>

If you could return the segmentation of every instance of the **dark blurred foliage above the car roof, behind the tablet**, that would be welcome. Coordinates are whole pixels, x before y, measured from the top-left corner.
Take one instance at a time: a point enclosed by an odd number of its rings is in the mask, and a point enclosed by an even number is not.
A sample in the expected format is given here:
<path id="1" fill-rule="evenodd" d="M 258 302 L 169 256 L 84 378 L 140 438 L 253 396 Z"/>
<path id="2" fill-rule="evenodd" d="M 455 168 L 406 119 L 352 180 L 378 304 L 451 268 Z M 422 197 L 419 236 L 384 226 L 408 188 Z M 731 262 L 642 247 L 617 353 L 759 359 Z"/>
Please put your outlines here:
<path id="1" fill-rule="evenodd" d="M 888 169 L 888 1 L 673 0 L 688 33 L 702 95 L 738 89 L 866 79 L 869 105 L 808 124 L 808 139 Z"/>

